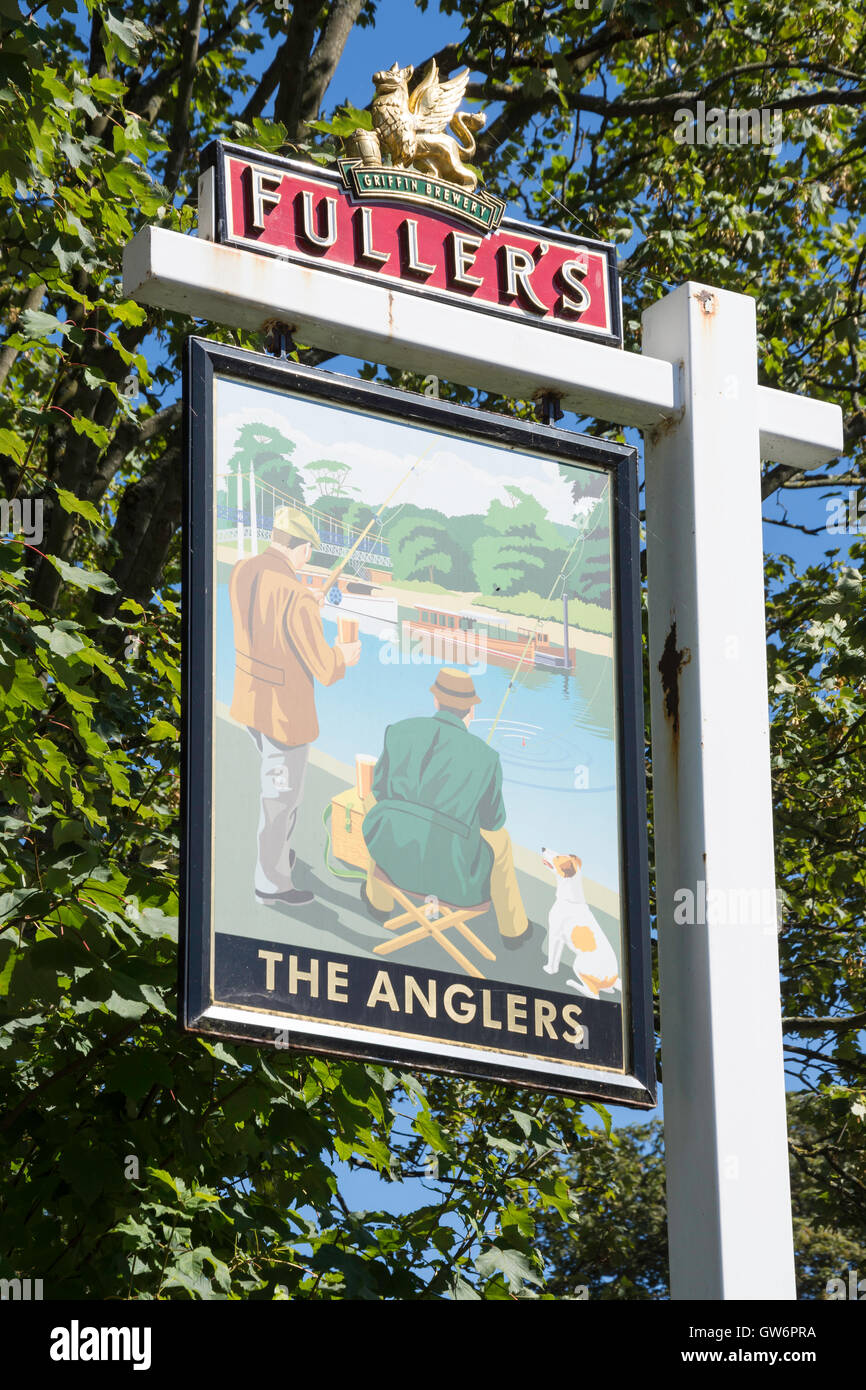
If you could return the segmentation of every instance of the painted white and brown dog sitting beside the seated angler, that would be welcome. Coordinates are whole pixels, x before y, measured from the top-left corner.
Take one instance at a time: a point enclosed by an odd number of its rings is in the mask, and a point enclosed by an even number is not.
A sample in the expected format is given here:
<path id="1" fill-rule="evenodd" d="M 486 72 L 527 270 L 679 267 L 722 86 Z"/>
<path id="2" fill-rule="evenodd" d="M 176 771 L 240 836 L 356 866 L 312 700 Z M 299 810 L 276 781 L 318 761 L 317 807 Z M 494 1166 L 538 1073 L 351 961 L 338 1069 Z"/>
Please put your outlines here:
<path id="1" fill-rule="evenodd" d="M 613 947 L 599 927 L 584 897 L 582 863 L 577 855 L 541 851 L 541 860 L 556 874 L 556 901 L 548 916 L 548 974 L 556 974 L 563 951 L 574 951 L 574 980 L 566 980 L 578 994 L 598 999 L 621 990 Z"/>

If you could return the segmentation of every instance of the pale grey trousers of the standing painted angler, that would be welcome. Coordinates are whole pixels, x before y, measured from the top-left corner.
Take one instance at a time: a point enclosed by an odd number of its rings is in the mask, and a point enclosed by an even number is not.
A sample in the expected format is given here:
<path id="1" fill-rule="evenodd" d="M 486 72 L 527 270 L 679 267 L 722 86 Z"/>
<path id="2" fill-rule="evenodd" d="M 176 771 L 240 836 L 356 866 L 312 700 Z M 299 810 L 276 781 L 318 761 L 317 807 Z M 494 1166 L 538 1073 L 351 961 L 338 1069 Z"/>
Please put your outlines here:
<path id="1" fill-rule="evenodd" d="M 289 892 L 292 888 L 291 840 L 303 796 L 309 744 L 278 744 L 257 728 L 249 730 L 261 755 L 261 809 L 256 892 Z"/>

